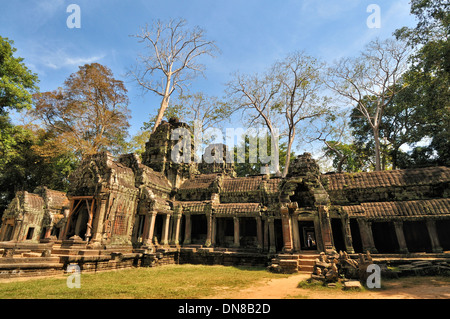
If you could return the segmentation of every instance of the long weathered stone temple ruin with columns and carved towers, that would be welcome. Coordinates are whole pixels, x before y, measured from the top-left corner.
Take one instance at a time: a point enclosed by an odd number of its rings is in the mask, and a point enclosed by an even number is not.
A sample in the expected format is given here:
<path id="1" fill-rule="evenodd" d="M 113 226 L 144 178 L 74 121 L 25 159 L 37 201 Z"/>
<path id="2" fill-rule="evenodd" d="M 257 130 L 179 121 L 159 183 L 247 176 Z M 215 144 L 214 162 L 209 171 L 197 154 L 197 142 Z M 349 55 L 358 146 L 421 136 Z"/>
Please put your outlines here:
<path id="1" fill-rule="evenodd" d="M 67 194 L 18 192 L 3 213 L 0 277 L 167 263 L 313 272 L 319 253 L 445 263 L 450 168 L 321 174 L 305 153 L 286 178 L 236 177 L 229 163 L 175 163 L 163 121 L 135 154 L 86 157 Z M 216 145 L 217 146 L 217 145 Z M 224 147 L 224 146 L 219 146 Z"/>

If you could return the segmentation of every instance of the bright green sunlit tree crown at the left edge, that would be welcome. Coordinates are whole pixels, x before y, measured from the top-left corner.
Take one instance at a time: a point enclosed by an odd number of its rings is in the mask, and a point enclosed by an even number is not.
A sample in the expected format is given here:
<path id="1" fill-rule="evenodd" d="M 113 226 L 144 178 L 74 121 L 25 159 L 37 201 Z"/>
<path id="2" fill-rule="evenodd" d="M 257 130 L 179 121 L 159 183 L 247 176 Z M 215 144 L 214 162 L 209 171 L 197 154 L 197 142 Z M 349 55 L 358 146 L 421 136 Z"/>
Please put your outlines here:
<path id="1" fill-rule="evenodd" d="M 37 75 L 14 57 L 14 42 L 0 36 L 0 112 L 6 108 L 21 110 L 29 108 L 32 93 L 37 91 Z"/>

